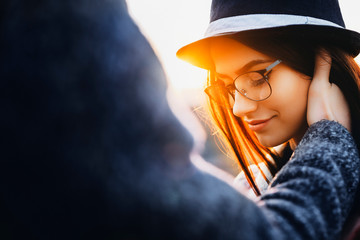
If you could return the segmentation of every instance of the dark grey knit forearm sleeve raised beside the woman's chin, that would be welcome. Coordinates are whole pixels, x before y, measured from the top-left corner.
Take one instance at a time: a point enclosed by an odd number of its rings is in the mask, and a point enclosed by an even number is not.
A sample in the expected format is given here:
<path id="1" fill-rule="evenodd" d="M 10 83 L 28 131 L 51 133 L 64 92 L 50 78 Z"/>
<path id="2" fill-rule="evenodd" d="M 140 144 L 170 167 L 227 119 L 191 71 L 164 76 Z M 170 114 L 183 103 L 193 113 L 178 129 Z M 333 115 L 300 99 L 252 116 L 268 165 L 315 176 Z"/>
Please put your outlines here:
<path id="1" fill-rule="evenodd" d="M 337 239 L 359 183 L 359 168 L 350 133 L 322 120 L 310 126 L 258 206 L 284 239 Z"/>

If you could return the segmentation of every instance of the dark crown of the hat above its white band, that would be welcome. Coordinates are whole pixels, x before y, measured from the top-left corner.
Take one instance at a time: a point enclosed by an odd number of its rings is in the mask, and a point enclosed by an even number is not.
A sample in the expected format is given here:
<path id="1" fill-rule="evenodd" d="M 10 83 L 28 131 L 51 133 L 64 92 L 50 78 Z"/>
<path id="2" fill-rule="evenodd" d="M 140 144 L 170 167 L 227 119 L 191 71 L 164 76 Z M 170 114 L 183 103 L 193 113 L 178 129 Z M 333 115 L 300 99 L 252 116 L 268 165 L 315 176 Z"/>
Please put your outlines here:
<path id="1" fill-rule="evenodd" d="M 345 27 L 338 0 L 213 0 L 210 22 L 250 14 L 307 16 Z"/>

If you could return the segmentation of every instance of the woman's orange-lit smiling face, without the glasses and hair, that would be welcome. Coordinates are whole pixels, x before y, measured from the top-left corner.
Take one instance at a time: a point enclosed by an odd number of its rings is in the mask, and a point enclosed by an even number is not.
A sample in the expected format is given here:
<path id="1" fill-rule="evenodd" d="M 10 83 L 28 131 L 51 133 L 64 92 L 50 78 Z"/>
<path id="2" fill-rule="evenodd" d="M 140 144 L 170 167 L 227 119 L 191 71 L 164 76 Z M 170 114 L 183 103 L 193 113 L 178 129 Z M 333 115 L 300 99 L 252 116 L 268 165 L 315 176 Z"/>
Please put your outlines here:
<path id="1" fill-rule="evenodd" d="M 257 71 L 277 60 L 227 38 L 213 40 L 211 56 L 216 74 L 225 85 L 242 74 L 244 66 L 250 64 L 246 72 Z M 236 91 L 233 113 L 244 120 L 264 146 L 273 147 L 288 140 L 297 144 L 307 129 L 306 106 L 310 82 L 309 77 L 280 63 L 269 74 L 271 96 L 256 102 Z"/>

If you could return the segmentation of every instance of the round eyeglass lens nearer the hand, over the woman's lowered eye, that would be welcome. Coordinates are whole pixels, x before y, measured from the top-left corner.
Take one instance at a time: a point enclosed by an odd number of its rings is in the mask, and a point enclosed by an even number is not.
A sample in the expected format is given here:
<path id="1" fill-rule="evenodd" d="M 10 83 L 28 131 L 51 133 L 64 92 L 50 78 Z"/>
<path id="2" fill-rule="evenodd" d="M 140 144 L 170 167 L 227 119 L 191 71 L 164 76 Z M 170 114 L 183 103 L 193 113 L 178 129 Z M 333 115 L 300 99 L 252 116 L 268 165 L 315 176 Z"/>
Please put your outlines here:
<path id="1" fill-rule="evenodd" d="M 258 72 L 249 72 L 235 79 L 235 87 L 248 99 L 261 101 L 271 95 L 270 84 Z"/>

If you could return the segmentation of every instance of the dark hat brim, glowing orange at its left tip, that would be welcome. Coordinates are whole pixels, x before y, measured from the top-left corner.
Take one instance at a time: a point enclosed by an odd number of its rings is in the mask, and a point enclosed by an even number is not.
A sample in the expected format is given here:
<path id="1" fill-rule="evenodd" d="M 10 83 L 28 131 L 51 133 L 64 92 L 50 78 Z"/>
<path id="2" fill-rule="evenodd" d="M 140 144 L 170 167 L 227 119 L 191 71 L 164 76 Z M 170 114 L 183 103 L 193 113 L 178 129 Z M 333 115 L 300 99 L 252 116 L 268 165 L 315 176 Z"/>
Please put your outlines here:
<path id="1" fill-rule="evenodd" d="M 212 39 L 239 33 L 246 36 L 249 32 L 264 30 L 278 30 L 296 34 L 298 36 L 310 36 L 318 41 L 321 39 L 321 42 L 338 46 L 353 57 L 356 57 L 360 52 L 360 34 L 358 32 L 333 26 L 300 24 L 218 33 L 216 35 L 204 37 L 180 48 L 177 51 L 176 56 L 194 66 L 204 69 L 212 69 L 214 66 L 210 56 L 210 44 Z M 301 38 L 299 38 L 299 41 L 301 41 Z"/>

